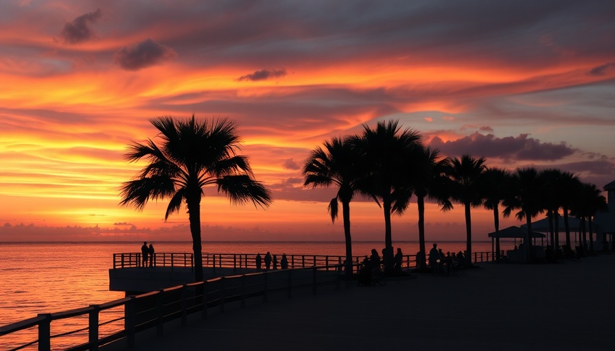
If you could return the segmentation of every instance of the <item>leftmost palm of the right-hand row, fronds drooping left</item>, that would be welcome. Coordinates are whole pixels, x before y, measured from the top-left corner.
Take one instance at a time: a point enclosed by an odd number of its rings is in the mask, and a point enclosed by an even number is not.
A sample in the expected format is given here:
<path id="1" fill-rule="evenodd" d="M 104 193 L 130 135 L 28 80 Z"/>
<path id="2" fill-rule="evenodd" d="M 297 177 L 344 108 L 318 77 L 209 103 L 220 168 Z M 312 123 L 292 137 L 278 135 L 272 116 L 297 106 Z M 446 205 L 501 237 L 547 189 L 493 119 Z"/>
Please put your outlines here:
<path id="1" fill-rule="evenodd" d="M 325 141 L 324 149 L 316 147 L 303 166 L 305 182 L 303 186 L 338 187 L 336 196 L 329 202 L 327 208 L 332 222 L 338 217 L 338 200 L 342 203 L 342 217 L 344 221 L 344 237 L 346 241 L 346 269 L 347 275 L 352 274 L 352 240 L 350 235 L 350 202 L 358 192 L 360 171 L 360 158 L 357 150 L 341 138 Z"/>

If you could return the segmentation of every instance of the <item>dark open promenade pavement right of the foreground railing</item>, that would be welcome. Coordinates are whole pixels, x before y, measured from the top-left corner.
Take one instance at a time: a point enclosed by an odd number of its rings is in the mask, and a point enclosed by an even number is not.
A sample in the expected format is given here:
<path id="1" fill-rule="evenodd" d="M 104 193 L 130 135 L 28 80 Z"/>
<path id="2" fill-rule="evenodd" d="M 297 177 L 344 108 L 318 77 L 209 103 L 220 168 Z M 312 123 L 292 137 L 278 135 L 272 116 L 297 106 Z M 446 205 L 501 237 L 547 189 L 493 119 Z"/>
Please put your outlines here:
<path id="1" fill-rule="evenodd" d="M 227 308 L 165 336 L 156 350 L 615 350 L 615 255 L 558 265 L 483 264 L 385 287 Z M 104 348 L 103 350 L 122 350 Z"/>

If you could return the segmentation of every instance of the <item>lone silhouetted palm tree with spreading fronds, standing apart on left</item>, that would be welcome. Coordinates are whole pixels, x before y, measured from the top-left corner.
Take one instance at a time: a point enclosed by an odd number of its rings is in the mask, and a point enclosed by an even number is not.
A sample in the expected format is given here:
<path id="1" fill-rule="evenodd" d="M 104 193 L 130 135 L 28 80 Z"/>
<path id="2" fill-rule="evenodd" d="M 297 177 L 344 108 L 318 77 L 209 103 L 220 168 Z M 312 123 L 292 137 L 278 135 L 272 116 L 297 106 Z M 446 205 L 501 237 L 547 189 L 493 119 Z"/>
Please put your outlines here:
<path id="1" fill-rule="evenodd" d="M 161 143 L 156 145 L 133 142 L 128 146 L 126 160 L 136 162 L 145 158 L 134 180 L 121 186 L 123 206 L 142 210 L 149 199 L 170 198 L 165 220 L 178 213 L 185 203 L 188 210 L 195 279 L 203 279 L 200 228 L 200 202 L 205 186 L 218 186 L 218 193 L 231 199 L 232 204 L 248 201 L 266 207 L 271 203 L 270 192 L 253 178 L 248 158 L 237 155 L 241 139 L 237 125 L 229 119 L 196 121 L 158 117 L 151 120 L 159 130 Z"/>

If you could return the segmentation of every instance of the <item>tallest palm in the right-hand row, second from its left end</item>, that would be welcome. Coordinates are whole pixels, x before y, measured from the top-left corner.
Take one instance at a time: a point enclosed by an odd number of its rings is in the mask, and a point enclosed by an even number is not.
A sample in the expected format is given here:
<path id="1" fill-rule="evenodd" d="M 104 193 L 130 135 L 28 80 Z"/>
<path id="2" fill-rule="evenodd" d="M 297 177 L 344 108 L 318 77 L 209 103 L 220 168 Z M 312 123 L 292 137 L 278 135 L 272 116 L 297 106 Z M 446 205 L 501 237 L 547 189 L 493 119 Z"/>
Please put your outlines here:
<path id="1" fill-rule="evenodd" d="M 421 136 L 410 128 L 402 130 L 399 121 L 380 121 L 374 129 L 363 128 L 361 136 L 351 137 L 368 169 L 361 191 L 384 211 L 384 268 L 393 271 L 391 214 L 402 215 L 408 208 L 412 195 L 408 174 L 413 168 L 409 160 L 421 148 Z"/>

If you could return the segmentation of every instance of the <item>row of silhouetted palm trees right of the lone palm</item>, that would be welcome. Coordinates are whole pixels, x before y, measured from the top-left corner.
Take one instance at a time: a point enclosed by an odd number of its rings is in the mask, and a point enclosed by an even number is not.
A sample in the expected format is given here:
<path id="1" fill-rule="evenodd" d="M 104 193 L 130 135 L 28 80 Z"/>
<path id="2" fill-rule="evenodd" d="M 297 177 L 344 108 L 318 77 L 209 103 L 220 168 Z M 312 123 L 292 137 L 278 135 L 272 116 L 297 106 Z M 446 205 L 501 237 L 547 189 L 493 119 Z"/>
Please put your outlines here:
<path id="1" fill-rule="evenodd" d="M 441 210 L 452 209 L 454 202 L 463 204 L 466 254 L 469 259 L 472 258 L 472 207 L 484 206 L 493 210 L 496 231 L 499 230 L 500 206 L 504 217 L 515 213 L 518 219 L 525 219 L 528 233 L 524 238 L 524 247 L 530 259 L 529 233 L 533 217 L 546 212 L 550 223 L 553 223 L 561 210 L 566 223 L 566 245 L 570 247 L 568 215 L 586 219 L 591 224 L 596 211 L 606 203 L 594 184 L 583 184 L 569 172 L 526 168 L 511 173 L 505 169 L 487 167 L 482 157 L 442 157 L 438 149 L 423 145 L 417 131 L 402 129 L 398 121 L 381 121 L 375 128 L 363 127 L 360 135 L 325 141 L 323 147 L 312 151 L 303 166 L 304 186 L 336 186 L 338 189 L 329 202 L 328 210 L 332 221 L 335 221 L 338 203 L 342 204 L 346 262 L 349 264 L 352 262 L 350 202 L 355 195 L 373 198 L 384 212 L 386 271 L 391 271 L 393 265 L 391 215 L 402 215 L 413 195 L 417 198 L 419 212 L 419 267 L 425 264 L 426 199 L 437 202 Z M 557 230 L 550 232 L 552 242 L 559 243 Z M 590 245 L 591 235 L 590 228 Z M 499 256 L 499 240 L 496 245 Z"/>

